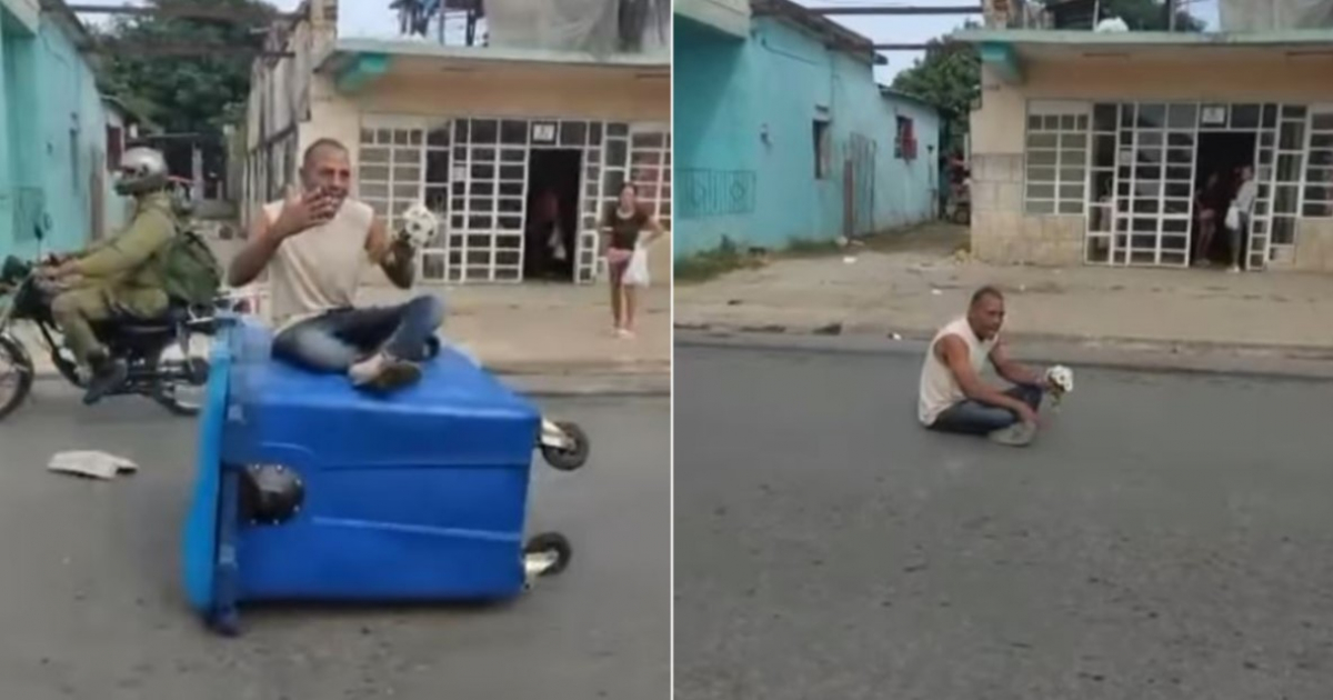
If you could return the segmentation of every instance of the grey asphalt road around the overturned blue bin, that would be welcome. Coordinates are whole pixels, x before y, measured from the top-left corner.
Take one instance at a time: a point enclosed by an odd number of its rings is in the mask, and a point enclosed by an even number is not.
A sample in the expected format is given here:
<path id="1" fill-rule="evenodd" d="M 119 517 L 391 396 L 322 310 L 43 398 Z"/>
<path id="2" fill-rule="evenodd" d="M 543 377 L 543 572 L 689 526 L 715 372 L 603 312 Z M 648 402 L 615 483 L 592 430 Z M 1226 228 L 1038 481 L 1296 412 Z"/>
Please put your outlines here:
<path id="1" fill-rule="evenodd" d="M 243 612 L 215 637 L 185 609 L 180 523 L 195 424 L 139 399 L 83 408 L 55 381 L 0 423 L 0 697 L 347 700 L 669 697 L 669 404 L 544 401 L 593 457 L 536 457 L 531 531 L 573 543 L 561 576 L 485 608 Z M 60 449 L 141 473 L 48 473 Z"/>

